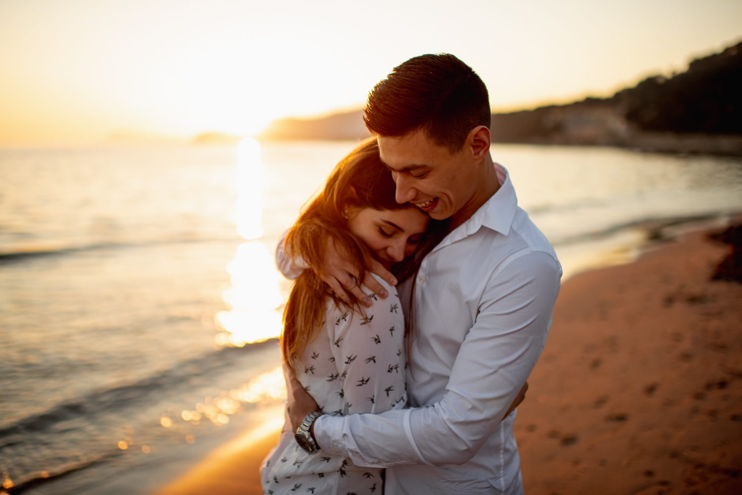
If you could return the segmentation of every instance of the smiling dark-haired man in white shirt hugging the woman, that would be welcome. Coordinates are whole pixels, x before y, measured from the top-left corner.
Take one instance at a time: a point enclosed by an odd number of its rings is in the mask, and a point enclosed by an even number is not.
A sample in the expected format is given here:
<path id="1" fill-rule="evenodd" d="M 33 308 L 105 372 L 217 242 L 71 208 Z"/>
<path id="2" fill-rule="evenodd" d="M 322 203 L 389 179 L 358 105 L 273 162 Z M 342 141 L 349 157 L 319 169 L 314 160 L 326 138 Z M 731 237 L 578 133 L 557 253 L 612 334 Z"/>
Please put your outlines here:
<path id="1" fill-rule="evenodd" d="M 487 88 L 452 55 L 419 56 L 376 85 L 364 120 L 397 202 L 449 219 L 449 233 L 399 288 L 413 311 L 410 408 L 312 414 L 309 442 L 355 465 L 386 467 L 387 494 L 520 494 L 515 414 L 506 413 L 544 348 L 561 268 L 490 157 Z M 323 278 L 338 295 L 370 305 L 355 282 L 364 280 L 387 296 L 328 250 L 335 262 Z M 281 250 L 278 265 L 292 275 Z M 301 392 L 289 407 L 295 427 L 317 408 Z"/>

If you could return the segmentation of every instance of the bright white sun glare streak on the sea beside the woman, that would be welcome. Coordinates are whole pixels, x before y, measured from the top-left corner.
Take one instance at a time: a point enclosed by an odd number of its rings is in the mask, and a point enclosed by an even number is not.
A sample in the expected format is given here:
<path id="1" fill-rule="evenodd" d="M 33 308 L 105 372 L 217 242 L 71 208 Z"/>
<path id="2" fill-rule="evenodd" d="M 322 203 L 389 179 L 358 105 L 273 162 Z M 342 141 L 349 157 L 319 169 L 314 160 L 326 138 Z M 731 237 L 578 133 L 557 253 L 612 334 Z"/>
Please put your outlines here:
<path id="1" fill-rule="evenodd" d="M 263 235 L 263 165 L 260 144 L 247 138 L 240 142 L 237 157 L 237 233 L 245 239 Z M 237 247 L 237 255 L 227 265 L 232 288 L 223 293 L 232 310 L 221 311 L 217 323 L 226 331 L 218 333 L 219 346 L 243 347 L 280 335 L 281 304 L 278 272 L 266 247 L 260 242 L 246 242 Z"/>

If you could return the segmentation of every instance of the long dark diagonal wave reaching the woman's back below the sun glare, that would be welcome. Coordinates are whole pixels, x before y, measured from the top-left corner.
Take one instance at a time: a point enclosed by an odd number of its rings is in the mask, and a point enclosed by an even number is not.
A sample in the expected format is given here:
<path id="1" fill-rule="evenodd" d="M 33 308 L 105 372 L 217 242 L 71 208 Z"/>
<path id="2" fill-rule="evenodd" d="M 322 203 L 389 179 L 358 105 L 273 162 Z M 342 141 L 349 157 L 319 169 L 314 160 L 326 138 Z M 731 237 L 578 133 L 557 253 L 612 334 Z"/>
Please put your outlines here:
<path id="1" fill-rule="evenodd" d="M 46 431 L 56 423 L 91 416 L 151 402 L 151 395 L 159 391 L 177 388 L 178 385 L 196 376 L 213 375 L 229 368 L 246 353 L 258 352 L 266 346 L 275 345 L 275 339 L 246 345 L 243 348 L 223 348 L 206 356 L 188 359 L 176 366 L 130 384 L 114 385 L 77 399 L 53 405 L 46 411 L 33 413 L 6 425 L 0 423 L 0 450 L 22 441 L 21 435 Z"/>

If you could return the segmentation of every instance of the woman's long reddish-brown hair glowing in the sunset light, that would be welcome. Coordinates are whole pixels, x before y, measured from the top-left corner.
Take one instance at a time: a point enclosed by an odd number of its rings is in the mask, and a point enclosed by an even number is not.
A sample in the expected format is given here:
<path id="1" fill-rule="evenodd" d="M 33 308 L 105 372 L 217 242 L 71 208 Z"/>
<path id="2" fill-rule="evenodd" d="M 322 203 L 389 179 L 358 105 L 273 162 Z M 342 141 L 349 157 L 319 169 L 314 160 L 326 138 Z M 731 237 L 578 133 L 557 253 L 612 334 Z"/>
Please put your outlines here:
<path id="1" fill-rule="evenodd" d="M 338 252 L 347 254 L 347 259 L 355 265 L 356 273 L 364 273 L 370 268 L 372 253 L 350 233 L 344 210 L 347 207 L 374 210 L 416 207 L 410 203 L 398 204 L 395 189 L 392 174 L 379 158 L 376 139 L 367 139 L 335 166 L 324 189 L 308 203 L 287 233 L 284 243 L 286 254 L 294 260 L 301 259 L 309 267 L 296 279 L 289 302 L 283 310 L 280 345 L 283 359 L 292 371 L 295 371 L 295 364 L 301 359 L 306 346 L 322 328 L 328 298 L 338 307 L 363 313 L 358 302 L 347 305 L 317 276 L 317 273 L 324 272 L 325 248 L 329 238 Z M 443 222 L 430 221 L 416 253 L 392 268 L 399 282 L 416 273 L 425 254 L 442 238 L 443 231 Z"/>

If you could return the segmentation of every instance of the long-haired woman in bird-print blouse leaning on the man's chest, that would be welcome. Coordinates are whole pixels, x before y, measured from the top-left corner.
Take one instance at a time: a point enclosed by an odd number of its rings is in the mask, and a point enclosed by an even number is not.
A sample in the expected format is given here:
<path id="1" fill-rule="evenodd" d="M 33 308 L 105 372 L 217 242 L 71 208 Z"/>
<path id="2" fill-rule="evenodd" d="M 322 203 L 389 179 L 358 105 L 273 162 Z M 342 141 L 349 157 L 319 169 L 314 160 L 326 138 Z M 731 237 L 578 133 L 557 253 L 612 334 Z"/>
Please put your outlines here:
<path id="1" fill-rule="evenodd" d="M 284 312 L 281 350 L 286 373 L 294 373 L 324 413 L 383 413 L 404 407 L 404 315 L 396 290 L 372 308 L 347 305 L 315 273 L 322 273 L 328 236 L 352 255 L 358 273 L 377 259 L 402 281 L 415 273 L 435 245 L 430 219 L 414 205 L 395 201 L 395 184 L 381 163 L 375 139 L 362 143 L 332 171 L 324 190 L 289 230 L 284 249 L 310 270 L 296 280 Z M 442 232 L 433 222 L 434 233 Z M 413 256 L 415 255 L 415 256 Z M 289 380 L 286 380 L 289 383 Z M 290 385 L 289 385 L 290 388 Z M 290 422 L 263 461 L 263 493 L 381 493 L 381 470 L 358 468 L 346 457 L 297 444 Z"/>

